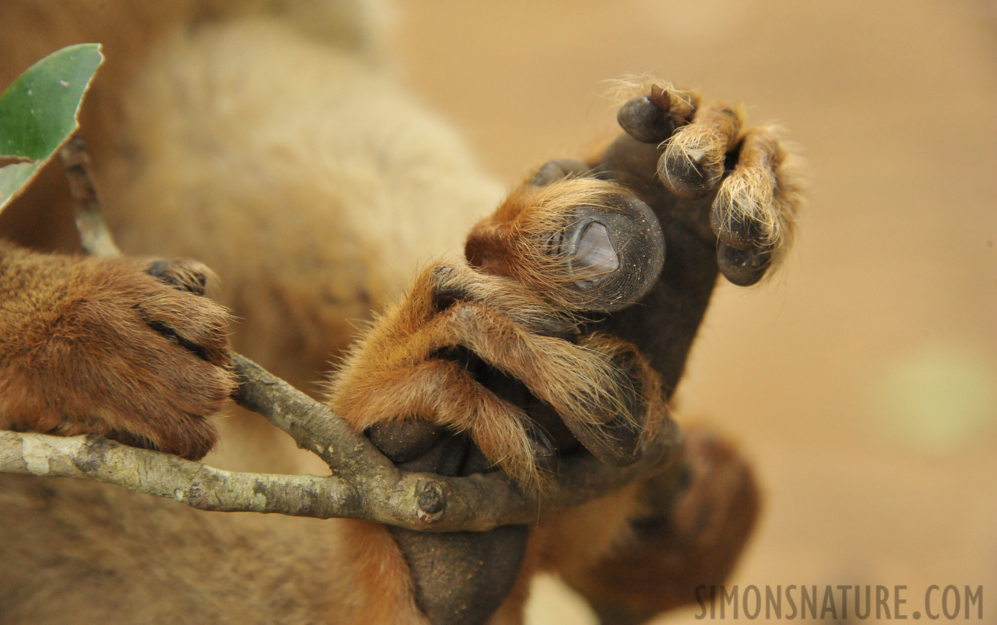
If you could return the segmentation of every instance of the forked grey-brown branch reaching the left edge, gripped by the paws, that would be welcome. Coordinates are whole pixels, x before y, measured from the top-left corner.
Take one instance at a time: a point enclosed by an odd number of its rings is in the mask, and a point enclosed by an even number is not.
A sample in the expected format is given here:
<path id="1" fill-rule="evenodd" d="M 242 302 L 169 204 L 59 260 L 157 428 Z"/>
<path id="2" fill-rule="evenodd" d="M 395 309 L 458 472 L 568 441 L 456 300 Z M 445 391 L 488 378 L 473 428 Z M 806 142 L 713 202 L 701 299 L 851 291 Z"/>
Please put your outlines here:
<path id="1" fill-rule="evenodd" d="M 365 438 L 339 417 L 250 361 L 260 378 L 278 388 L 263 415 L 274 423 L 300 424 L 324 414 L 329 431 L 322 439 L 332 458 L 332 475 L 284 475 L 214 469 L 201 463 L 127 447 L 98 436 L 54 437 L 0 432 L 0 473 L 86 477 L 137 492 L 175 499 L 202 510 L 276 512 L 317 518 L 358 518 L 409 529 L 484 531 L 529 523 L 543 513 L 591 500 L 624 484 L 678 469 L 680 435 L 674 425 L 652 442 L 646 460 L 618 469 L 583 455 L 565 461 L 550 477 L 547 491 L 524 493 L 500 471 L 446 477 L 395 469 Z M 244 365 L 240 363 L 241 369 Z M 263 383 L 267 384 L 267 383 Z M 239 400 L 273 386 L 246 381 Z M 302 401 L 303 398 L 303 401 Z M 287 410 L 292 402 L 300 404 Z M 248 403 L 243 403 L 247 405 Z M 340 425 L 343 426 L 340 429 Z M 323 426 L 324 427 L 324 426 Z M 298 427 L 299 433 L 306 430 Z M 313 446 L 307 436 L 305 446 Z M 300 442 L 299 442 L 300 443 Z M 328 448 L 344 449 L 331 454 Z M 306 447 L 307 449 L 307 447 Z"/>

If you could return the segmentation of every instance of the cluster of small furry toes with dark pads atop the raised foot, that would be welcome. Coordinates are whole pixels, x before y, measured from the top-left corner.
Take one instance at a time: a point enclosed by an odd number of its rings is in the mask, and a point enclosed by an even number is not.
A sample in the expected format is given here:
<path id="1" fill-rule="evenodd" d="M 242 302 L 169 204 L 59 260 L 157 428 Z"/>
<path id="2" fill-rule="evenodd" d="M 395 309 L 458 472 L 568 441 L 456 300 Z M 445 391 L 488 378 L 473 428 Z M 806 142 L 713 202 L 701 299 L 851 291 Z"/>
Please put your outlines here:
<path id="1" fill-rule="evenodd" d="M 733 283 L 758 282 L 792 244 L 801 202 L 798 166 L 771 125 L 745 129 L 740 106 L 700 106 L 696 92 L 668 83 L 642 86 L 617 116 L 624 131 L 659 144 L 657 177 L 675 195 L 713 194 L 710 225 L 717 260 Z"/>

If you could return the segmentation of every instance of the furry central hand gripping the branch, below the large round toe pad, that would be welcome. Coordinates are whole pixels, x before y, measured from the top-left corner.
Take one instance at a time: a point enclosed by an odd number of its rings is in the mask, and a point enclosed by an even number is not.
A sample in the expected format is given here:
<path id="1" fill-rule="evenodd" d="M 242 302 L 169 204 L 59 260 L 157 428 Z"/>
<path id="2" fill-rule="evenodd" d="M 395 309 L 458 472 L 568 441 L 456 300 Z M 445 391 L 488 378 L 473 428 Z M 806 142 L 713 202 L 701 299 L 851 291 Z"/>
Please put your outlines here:
<path id="1" fill-rule="evenodd" d="M 619 368 L 627 347 L 577 333 L 569 314 L 511 279 L 434 265 L 355 347 L 333 406 L 403 469 L 500 467 L 535 483 L 579 441 L 632 463 L 637 437 L 615 436 L 642 417 Z"/>

